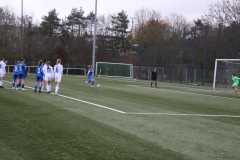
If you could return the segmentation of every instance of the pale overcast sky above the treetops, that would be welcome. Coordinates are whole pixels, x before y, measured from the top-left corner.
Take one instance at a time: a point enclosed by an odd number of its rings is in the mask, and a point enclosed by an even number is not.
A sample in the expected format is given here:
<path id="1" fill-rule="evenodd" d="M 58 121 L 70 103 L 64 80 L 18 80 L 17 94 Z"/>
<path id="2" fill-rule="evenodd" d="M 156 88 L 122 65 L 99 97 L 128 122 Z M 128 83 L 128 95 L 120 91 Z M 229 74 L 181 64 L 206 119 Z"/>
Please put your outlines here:
<path id="1" fill-rule="evenodd" d="M 8 6 L 18 16 L 21 15 L 22 0 L 0 0 L 0 6 Z M 126 11 L 129 17 L 133 17 L 135 11 L 142 8 L 153 9 L 167 16 L 170 13 L 178 13 L 188 21 L 196 20 L 208 11 L 208 6 L 218 0 L 97 0 L 98 15 L 108 15 Z M 56 9 L 59 18 L 64 18 L 71 13 L 72 8 L 80 8 L 87 15 L 95 11 L 95 0 L 23 0 L 23 13 L 33 15 L 34 21 L 41 22 L 41 17 L 47 15 L 52 9 Z"/>

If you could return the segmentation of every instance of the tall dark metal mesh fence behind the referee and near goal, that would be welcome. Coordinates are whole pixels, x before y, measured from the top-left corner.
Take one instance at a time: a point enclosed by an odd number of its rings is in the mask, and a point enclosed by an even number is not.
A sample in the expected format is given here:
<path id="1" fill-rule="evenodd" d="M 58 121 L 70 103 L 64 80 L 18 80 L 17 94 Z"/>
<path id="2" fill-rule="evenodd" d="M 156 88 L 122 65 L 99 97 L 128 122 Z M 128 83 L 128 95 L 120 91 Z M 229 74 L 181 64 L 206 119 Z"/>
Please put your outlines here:
<path id="1" fill-rule="evenodd" d="M 215 59 L 240 58 L 240 24 L 219 24 L 183 30 L 179 46 L 139 49 L 139 67 L 134 77 L 149 79 L 149 67 L 162 67 L 159 81 L 207 85 L 213 82 Z"/>

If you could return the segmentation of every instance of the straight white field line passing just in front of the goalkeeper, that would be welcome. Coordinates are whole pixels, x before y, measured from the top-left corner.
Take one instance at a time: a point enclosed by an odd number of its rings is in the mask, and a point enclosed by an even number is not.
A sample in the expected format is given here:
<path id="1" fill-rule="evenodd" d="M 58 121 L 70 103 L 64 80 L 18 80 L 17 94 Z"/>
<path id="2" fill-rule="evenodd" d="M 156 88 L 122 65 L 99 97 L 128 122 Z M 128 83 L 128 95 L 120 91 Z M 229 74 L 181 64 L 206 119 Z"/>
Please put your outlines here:
<path id="1" fill-rule="evenodd" d="M 137 85 L 128 85 L 130 87 L 139 87 L 139 88 L 149 88 L 149 87 L 143 87 L 143 86 L 137 86 Z M 149 89 L 156 89 L 156 88 L 149 88 Z M 212 98 L 222 98 L 222 99 L 228 99 L 228 100 L 236 100 L 239 101 L 239 99 L 236 98 L 228 98 L 228 97 L 221 97 L 221 96 L 212 96 L 212 95 L 207 95 L 207 94 L 202 94 L 202 93 L 192 93 L 192 92 L 183 92 L 183 91 L 175 91 L 171 89 L 162 89 L 162 88 L 157 88 L 157 90 L 163 90 L 163 91 L 168 91 L 168 92 L 175 92 L 175 93 L 183 93 L 183 94 L 191 94 L 191 95 L 198 95 L 198 96 L 205 96 L 205 97 L 212 97 Z"/>

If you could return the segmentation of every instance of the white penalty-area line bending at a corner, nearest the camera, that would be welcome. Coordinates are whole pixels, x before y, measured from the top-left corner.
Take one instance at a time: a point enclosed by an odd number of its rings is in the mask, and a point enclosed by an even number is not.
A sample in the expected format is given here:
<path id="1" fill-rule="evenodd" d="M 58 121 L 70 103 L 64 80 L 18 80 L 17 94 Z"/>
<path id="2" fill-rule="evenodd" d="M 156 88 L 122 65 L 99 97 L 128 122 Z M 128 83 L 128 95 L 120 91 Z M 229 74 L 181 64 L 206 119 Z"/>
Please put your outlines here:
<path id="1" fill-rule="evenodd" d="M 9 82 L 9 81 L 4 81 L 4 82 L 12 83 L 12 82 Z M 30 89 L 34 89 L 33 87 L 29 87 L 29 86 L 25 86 L 25 87 L 26 87 L 26 88 L 30 88 Z M 187 92 L 186 92 L 186 93 L 187 93 Z M 54 93 L 51 93 L 51 94 L 54 94 Z M 64 98 L 67 98 L 67 99 L 71 99 L 71 100 L 75 100 L 75 101 L 78 101 L 78 102 L 86 103 L 86 104 L 89 104 L 89 105 L 93 105 L 93 106 L 96 106 L 96 107 L 99 107 L 99 108 L 104 108 L 104 109 L 111 110 L 111 111 L 114 111 L 114 112 L 118 112 L 118 113 L 122 113 L 122 114 L 128 114 L 128 115 L 164 115 L 164 116 L 193 116 L 193 117 L 240 118 L 240 116 L 234 116 L 234 115 L 204 115 L 204 114 L 174 114 L 174 113 L 135 113 L 135 112 L 123 112 L 123 111 L 120 111 L 120 110 L 117 110 L 117 109 L 113 109 L 113 108 L 110 108 L 110 107 L 106 107 L 106 106 L 103 106 L 103 105 L 99 105 L 99 104 L 92 103 L 92 102 L 88 102 L 88 101 L 84 101 L 84 100 L 80 100 L 80 99 L 73 98 L 73 97 L 68 97 L 68 96 L 64 96 L 64 95 L 60 95 L 60 94 L 58 94 L 58 96 L 64 97 Z"/>

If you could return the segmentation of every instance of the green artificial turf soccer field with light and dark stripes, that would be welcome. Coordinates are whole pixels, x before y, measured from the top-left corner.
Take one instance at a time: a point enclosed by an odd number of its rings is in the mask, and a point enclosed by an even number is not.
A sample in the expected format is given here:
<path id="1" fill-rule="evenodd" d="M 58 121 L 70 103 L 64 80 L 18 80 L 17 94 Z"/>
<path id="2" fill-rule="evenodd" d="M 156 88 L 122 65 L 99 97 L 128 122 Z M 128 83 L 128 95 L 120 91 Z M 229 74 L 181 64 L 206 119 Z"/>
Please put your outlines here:
<path id="1" fill-rule="evenodd" d="M 59 96 L 0 89 L 1 160 L 239 160 L 240 95 L 65 76 Z M 52 82 L 52 91 L 55 83 Z"/>

